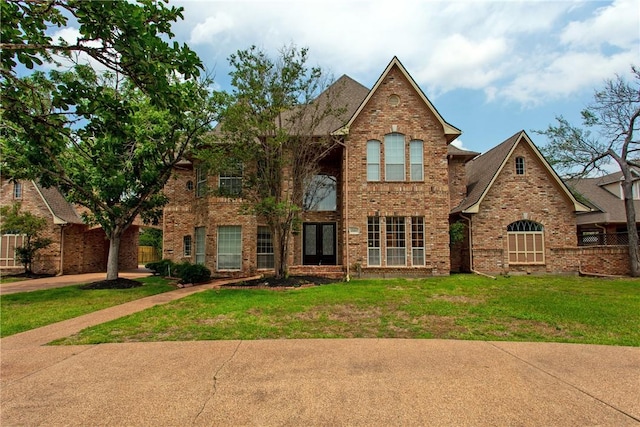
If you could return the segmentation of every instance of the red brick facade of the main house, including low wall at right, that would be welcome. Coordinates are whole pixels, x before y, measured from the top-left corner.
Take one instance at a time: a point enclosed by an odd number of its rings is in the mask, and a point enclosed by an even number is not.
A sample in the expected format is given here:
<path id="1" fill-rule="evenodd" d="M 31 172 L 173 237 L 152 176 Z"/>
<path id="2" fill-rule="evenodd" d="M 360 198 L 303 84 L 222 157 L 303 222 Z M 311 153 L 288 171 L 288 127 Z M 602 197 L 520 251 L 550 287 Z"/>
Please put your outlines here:
<path id="1" fill-rule="evenodd" d="M 335 254 L 325 259 L 344 273 L 358 276 L 446 275 L 470 270 L 490 274 L 628 270 L 618 249 L 605 253 L 577 246 L 575 212 L 581 205 L 528 137 L 517 142 L 507 158 L 500 159 L 504 167 L 494 175 L 478 209 L 468 213 L 457 210 L 470 197 L 465 163 L 475 153 L 458 150 L 458 154 L 447 156 L 448 144 L 459 131 L 444 122 L 395 59 L 339 134 L 344 135 L 340 152 L 322 165 L 323 173 L 337 180 L 336 210 L 302 215 L 301 229 L 294 232 L 288 254 L 289 265 L 297 274 L 325 262 L 309 254 L 315 255 L 316 246 L 326 252 L 327 242 Z M 379 142 L 375 161 L 369 158 L 369 141 Z M 422 146 L 419 159 L 412 151 L 412 141 L 420 141 Z M 388 151 L 387 145 L 392 144 L 403 148 Z M 372 147 L 375 153 L 375 144 Z M 516 172 L 516 158 L 524 161 L 524 173 Z M 387 176 L 393 173 L 387 171 L 388 165 L 395 167 L 395 179 Z M 377 168 L 378 175 L 368 177 L 368 167 Z M 421 169 L 422 176 L 412 176 L 414 168 Z M 399 171 L 403 179 L 398 178 Z M 200 261 L 212 271 L 227 275 L 258 272 L 259 220 L 242 213 L 241 201 L 211 195 L 215 191 L 198 197 L 191 165 L 175 175 L 165 188 L 170 204 L 164 212 L 164 257 L 195 262 L 195 230 L 203 228 L 205 245 Z M 208 177 L 209 188 L 215 190 L 217 181 L 216 176 Z M 523 220 L 541 226 L 544 246 L 534 254 L 539 257 L 534 263 L 510 262 L 507 228 Z M 467 225 L 466 237 L 450 249 L 449 224 L 455 221 Z M 219 268 L 219 258 L 226 256 L 218 254 L 220 227 L 241 230 L 241 263 L 235 264 L 236 268 Z M 310 239 L 308 229 L 318 234 Z M 191 249 L 187 256 L 185 237 Z M 612 262 L 605 266 L 607 259 Z"/>

